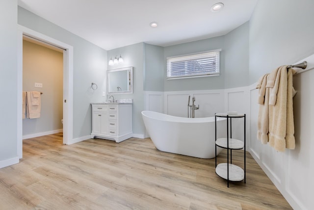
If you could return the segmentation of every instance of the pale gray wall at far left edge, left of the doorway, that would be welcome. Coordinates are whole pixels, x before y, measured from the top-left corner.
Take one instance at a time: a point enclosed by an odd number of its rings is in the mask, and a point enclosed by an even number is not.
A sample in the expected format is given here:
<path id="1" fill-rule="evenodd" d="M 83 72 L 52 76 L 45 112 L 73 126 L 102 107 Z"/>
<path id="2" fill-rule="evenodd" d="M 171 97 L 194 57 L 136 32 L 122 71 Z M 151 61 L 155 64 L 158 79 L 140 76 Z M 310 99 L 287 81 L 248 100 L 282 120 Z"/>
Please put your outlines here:
<path id="1" fill-rule="evenodd" d="M 17 0 L 0 0 L 0 162 L 17 157 L 16 24 Z"/>

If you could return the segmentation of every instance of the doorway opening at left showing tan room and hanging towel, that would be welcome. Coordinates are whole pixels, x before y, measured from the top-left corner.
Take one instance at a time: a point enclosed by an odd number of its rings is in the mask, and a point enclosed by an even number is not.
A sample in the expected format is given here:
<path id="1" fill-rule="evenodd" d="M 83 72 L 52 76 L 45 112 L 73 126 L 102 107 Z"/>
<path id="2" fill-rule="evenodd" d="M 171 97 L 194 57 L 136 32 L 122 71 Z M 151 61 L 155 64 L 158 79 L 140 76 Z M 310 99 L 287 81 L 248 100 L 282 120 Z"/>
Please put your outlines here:
<path id="1" fill-rule="evenodd" d="M 23 140 L 63 131 L 63 51 L 23 35 Z"/>

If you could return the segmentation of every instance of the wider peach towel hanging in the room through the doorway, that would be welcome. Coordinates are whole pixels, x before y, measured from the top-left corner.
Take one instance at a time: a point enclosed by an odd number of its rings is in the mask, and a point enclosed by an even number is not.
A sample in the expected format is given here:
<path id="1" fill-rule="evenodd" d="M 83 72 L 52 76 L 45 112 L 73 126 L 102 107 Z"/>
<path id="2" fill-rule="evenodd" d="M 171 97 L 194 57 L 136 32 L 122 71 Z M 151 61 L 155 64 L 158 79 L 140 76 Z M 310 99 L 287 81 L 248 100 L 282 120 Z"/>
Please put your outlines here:
<path id="1" fill-rule="evenodd" d="M 40 92 L 27 91 L 26 92 L 26 117 L 29 119 L 40 118 Z"/>

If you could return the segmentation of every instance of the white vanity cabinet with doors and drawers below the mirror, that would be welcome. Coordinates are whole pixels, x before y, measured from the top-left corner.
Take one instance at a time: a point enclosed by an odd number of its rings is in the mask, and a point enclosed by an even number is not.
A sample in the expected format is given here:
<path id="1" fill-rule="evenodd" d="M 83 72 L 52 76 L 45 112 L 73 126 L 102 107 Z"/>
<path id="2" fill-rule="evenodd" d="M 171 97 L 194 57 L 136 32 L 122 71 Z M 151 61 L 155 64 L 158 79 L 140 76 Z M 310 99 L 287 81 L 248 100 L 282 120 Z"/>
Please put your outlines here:
<path id="1" fill-rule="evenodd" d="M 132 104 L 91 103 L 91 138 L 122 142 L 132 137 Z"/>

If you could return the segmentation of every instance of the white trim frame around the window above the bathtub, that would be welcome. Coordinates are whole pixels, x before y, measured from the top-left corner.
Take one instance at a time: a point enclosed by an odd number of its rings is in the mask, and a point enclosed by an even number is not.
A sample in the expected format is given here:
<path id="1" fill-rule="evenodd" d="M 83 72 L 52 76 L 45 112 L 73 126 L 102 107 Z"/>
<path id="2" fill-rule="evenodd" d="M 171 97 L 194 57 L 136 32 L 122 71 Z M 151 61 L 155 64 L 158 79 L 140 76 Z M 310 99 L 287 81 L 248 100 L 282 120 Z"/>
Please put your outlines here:
<path id="1" fill-rule="evenodd" d="M 185 75 L 185 76 L 168 76 L 169 72 L 169 65 L 171 63 L 170 60 L 178 58 L 180 60 L 181 57 L 187 57 L 187 56 L 195 56 L 197 58 L 198 55 L 201 54 L 206 54 L 206 53 L 212 53 L 212 52 L 219 52 L 219 60 L 218 60 L 218 71 L 216 70 L 215 72 L 207 72 L 205 74 L 195 74 L 195 75 Z M 188 79 L 188 78 L 197 78 L 197 77 L 210 77 L 210 76 L 219 76 L 220 75 L 220 52 L 221 49 L 216 49 L 216 50 L 210 50 L 210 51 L 205 51 L 205 52 L 199 52 L 199 53 L 192 53 L 192 54 L 185 54 L 185 55 L 180 55 L 180 56 L 173 56 L 173 57 L 167 57 L 166 61 L 166 74 L 167 74 L 167 80 L 173 80 L 173 79 Z M 183 61 L 183 60 L 182 60 Z"/>

